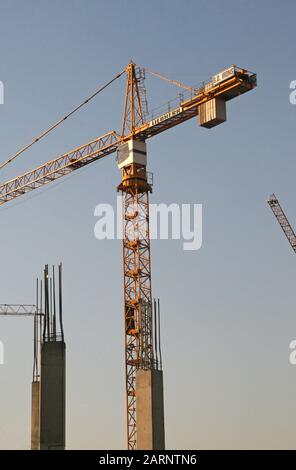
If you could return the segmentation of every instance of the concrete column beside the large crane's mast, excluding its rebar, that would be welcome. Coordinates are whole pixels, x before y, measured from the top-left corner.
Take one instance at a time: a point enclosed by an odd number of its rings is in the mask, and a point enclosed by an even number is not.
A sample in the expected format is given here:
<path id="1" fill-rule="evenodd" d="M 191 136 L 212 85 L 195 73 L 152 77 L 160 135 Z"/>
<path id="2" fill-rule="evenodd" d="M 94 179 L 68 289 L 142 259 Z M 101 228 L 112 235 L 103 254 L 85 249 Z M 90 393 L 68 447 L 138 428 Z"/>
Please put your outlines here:
<path id="1" fill-rule="evenodd" d="M 163 373 L 137 371 L 137 449 L 164 450 Z"/>

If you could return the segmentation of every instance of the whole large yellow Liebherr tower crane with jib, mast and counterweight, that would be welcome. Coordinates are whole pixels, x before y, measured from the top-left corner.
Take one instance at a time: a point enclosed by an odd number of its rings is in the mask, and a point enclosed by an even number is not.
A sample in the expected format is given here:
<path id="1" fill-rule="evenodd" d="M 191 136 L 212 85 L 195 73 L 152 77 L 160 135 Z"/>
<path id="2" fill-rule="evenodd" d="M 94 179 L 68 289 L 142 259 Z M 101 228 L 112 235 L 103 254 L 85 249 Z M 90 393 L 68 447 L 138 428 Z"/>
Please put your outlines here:
<path id="1" fill-rule="evenodd" d="M 145 73 L 187 90 L 189 97 L 184 99 L 180 95 L 177 106 L 169 106 L 163 114 L 149 118 L 144 86 Z M 255 73 L 232 65 L 214 75 L 201 87 L 192 88 L 130 62 L 109 83 L 122 75 L 126 76 L 126 92 L 121 132 L 112 130 L 1 184 L 0 205 L 117 152 L 121 170 L 121 182 L 117 190 L 122 194 L 123 205 L 127 447 L 136 449 L 136 374 L 138 370 L 160 368 L 159 361 L 155 359 L 156 345 L 153 334 L 155 325 L 152 314 L 149 237 L 149 194 L 152 192 L 152 184 L 147 172 L 146 141 L 197 116 L 202 127 L 212 128 L 221 124 L 226 120 L 226 103 L 256 87 L 257 79 Z M 73 112 L 88 101 L 83 102 Z M 38 136 L 6 163 L 19 156 L 64 119 Z"/>

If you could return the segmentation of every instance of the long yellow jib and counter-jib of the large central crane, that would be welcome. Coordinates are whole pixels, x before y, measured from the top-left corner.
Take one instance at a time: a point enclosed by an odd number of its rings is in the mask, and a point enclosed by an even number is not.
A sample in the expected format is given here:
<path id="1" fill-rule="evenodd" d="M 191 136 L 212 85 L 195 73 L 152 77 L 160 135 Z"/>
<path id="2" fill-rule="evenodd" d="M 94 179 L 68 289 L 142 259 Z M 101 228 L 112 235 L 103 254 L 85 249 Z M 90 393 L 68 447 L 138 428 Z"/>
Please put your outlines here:
<path id="1" fill-rule="evenodd" d="M 256 86 L 256 74 L 234 67 L 232 68 L 235 71 L 230 77 L 223 78 L 223 76 L 220 77 L 221 74 L 214 76 L 210 83 L 196 90 L 190 99 L 181 101 L 178 107 L 168 109 L 164 114 L 139 125 L 128 135 L 121 136 L 111 131 L 1 184 L 0 205 L 114 153 L 121 143 L 131 138 L 146 140 L 197 116 L 200 106 L 213 98 L 229 101 L 252 90 Z"/>

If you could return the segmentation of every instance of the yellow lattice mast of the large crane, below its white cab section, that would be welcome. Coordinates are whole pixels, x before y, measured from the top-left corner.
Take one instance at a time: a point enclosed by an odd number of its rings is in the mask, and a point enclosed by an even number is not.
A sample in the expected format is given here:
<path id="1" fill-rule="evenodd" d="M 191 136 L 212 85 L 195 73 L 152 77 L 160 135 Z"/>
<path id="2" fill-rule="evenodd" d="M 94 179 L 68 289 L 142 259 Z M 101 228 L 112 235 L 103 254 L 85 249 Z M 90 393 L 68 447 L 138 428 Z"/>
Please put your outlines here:
<path id="1" fill-rule="evenodd" d="M 122 170 L 123 277 L 128 448 L 136 449 L 136 371 L 153 366 L 149 192 L 145 165 Z M 147 308 L 148 307 L 148 308 Z M 144 315 L 146 318 L 144 319 Z"/>

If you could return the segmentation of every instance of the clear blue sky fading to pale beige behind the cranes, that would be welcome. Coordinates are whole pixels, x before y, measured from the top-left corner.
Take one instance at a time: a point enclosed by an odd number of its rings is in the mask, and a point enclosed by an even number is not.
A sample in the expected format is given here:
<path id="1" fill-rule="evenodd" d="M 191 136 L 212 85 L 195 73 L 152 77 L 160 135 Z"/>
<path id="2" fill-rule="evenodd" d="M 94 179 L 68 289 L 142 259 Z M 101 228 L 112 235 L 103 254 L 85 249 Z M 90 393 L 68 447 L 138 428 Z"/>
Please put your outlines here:
<path id="1" fill-rule="evenodd" d="M 204 206 L 201 250 L 152 243 L 168 448 L 295 448 L 296 264 L 266 204 L 275 191 L 296 226 L 295 14 L 293 1 L 264 0 L 0 4 L 1 161 L 131 58 L 189 85 L 233 63 L 258 74 L 227 123 L 192 120 L 148 147 L 152 202 Z M 156 105 L 179 92 L 152 86 Z M 123 97 L 119 82 L 1 181 L 119 130 Z M 119 180 L 109 157 L 0 208 L 0 303 L 31 303 L 44 263 L 64 264 L 68 448 L 125 446 L 121 244 L 93 234 L 94 208 L 115 204 Z M 29 448 L 32 324 L 0 322 L 0 448 Z"/>

